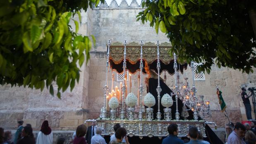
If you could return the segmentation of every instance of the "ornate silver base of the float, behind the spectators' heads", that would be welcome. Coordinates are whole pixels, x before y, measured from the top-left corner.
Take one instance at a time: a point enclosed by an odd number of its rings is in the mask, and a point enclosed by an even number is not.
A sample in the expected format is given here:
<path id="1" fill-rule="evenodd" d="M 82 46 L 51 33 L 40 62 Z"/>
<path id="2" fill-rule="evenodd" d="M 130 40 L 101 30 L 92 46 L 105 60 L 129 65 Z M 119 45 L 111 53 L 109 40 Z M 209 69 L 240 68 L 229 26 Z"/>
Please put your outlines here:
<path id="1" fill-rule="evenodd" d="M 114 125 L 120 123 L 122 127 L 127 130 L 129 137 L 165 137 L 168 135 L 168 125 L 175 123 L 179 127 L 179 137 L 187 135 L 189 126 L 196 126 L 203 133 L 205 137 L 205 123 L 204 121 L 190 121 L 190 120 L 171 120 L 171 121 L 149 121 L 149 120 L 96 120 L 97 126 L 103 128 L 102 135 L 114 134 Z"/>

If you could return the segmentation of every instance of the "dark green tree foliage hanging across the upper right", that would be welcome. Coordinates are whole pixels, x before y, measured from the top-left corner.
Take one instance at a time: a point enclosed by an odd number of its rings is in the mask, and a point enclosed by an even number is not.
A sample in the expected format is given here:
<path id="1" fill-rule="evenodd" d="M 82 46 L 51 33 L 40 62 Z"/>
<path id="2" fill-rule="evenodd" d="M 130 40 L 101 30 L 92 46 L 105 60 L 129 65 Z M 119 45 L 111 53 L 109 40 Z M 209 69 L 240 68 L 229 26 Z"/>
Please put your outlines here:
<path id="1" fill-rule="evenodd" d="M 203 62 L 210 73 L 215 63 L 249 73 L 256 67 L 256 38 L 248 11 L 254 0 L 145 0 L 137 21 L 149 21 L 172 43 L 179 61 Z"/>

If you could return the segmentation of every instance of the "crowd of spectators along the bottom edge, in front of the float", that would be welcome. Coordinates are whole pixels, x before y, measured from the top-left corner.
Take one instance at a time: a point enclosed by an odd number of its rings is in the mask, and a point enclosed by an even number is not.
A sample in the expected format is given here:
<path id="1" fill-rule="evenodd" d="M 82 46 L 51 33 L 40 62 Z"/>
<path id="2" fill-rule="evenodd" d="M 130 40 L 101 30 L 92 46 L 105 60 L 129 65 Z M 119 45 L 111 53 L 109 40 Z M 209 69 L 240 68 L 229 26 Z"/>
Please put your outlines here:
<path id="1" fill-rule="evenodd" d="M 33 129 L 30 124 L 23 126 L 23 121 L 18 121 L 18 128 L 14 139 L 11 131 L 5 131 L 0 128 L 0 144 L 53 144 L 53 132 L 49 127 L 47 120 L 43 121 L 41 130 L 37 137 L 33 135 Z M 129 144 L 127 131 L 119 123 L 113 127 L 114 135 L 111 135 L 109 144 Z M 104 137 L 101 136 L 102 128 L 96 126 L 96 122 L 88 128 L 86 125 L 79 125 L 73 134 L 72 141 L 69 144 L 107 144 Z M 169 136 L 164 138 L 162 144 L 210 144 L 203 140 L 202 132 L 197 127 L 189 127 L 187 137 L 179 139 L 178 125 L 170 124 L 167 127 Z M 13 141 L 13 142 L 12 142 Z M 66 139 L 59 137 L 55 144 L 64 144 Z M 226 144 L 256 144 L 256 125 L 251 123 L 229 123 L 226 127 Z"/>

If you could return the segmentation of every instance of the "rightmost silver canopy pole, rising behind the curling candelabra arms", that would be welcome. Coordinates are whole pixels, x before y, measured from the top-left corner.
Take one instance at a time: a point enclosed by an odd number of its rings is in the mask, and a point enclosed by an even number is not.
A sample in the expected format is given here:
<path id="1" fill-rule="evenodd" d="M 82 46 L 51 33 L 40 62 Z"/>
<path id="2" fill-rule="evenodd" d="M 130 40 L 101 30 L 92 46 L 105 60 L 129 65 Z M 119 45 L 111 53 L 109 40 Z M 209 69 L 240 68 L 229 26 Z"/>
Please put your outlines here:
<path id="1" fill-rule="evenodd" d="M 197 113 L 197 108 L 196 108 L 196 103 L 197 103 L 197 98 L 196 98 L 196 87 L 195 87 L 195 65 L 194 61 L 191 61 L 191 71 L 192 71 L 192 92 L 193 92 L 193 99 L 194 99 L 194 119 L 198 119 L 198 113 Z"/>

